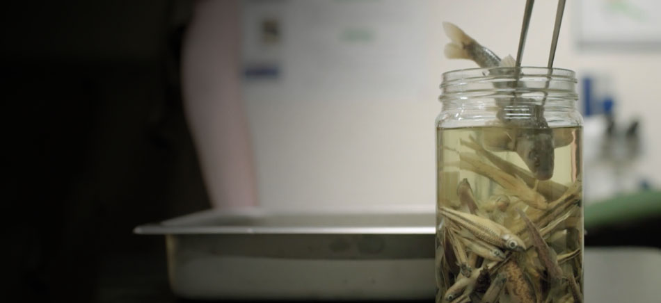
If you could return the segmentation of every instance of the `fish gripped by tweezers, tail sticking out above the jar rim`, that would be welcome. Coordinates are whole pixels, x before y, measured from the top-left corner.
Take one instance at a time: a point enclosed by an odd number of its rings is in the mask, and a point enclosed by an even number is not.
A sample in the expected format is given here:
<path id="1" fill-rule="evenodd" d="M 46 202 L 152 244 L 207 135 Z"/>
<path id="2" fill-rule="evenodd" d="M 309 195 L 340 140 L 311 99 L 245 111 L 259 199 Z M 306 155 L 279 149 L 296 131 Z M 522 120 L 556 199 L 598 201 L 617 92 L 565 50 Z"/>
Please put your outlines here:
<path id="1" fill-rule="evenodd" d="M 473 60 L 483 68 L 514 67 L 514 60 L 511 56 L 501 60 L 493 51 L 470 38 L 456 25 L 443 22 L 443 28 L 452 40 L 445 45 L 447 58 Z M 498 69 L 497 72 L 501 73 L 504 70 Z M 532 103 L 532 100 L 529 99 L 520 99 L 520 101 L 523 101 L 521 102 L 523 104 Z M 513 113 L 515 110 L 516 113 Z M 504 137 L 506 140 L 509 138 L 509 142 L 500 142 L 498 145 L 509 151 L 515 151 L 536 179 L 548 180 L 553 177 L 555 146 L 552 129 L 544 118 L 543 110 L 543 106 L 537 104 L 520 106 L 501 104 L 497 117 L 509 131 L 509 136 Z M 517 117 L 517 119 L 512 117 Z"/>

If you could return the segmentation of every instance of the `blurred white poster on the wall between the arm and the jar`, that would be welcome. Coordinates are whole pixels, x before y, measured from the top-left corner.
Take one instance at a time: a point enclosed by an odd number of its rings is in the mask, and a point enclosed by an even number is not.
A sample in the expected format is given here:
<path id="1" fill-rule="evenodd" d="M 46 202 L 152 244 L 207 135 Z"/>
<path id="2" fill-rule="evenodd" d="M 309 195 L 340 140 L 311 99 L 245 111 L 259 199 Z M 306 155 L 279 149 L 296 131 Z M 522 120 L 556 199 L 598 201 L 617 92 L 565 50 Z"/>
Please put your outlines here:
<path id="1" fill-rule="evenodd" d="M 425 2 L 248 1 L 244 65 L 273 67 L 266 78 L 296 96 L 411 101 L 425 76 Z M 269 23 L 277 38 L 264 33 Z"/>

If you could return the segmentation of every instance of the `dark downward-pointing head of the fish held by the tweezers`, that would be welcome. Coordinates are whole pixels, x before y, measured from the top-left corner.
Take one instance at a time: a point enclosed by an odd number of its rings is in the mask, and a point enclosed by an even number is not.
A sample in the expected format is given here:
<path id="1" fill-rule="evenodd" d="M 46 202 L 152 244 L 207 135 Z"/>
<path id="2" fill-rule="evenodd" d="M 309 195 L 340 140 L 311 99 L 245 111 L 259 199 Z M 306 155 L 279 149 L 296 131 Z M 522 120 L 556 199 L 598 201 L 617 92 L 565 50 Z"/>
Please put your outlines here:
<path id="1" fill-rule="evenodd" d="M 536 179 L 548 180 L 553 177 L 555 147 L 551 133 L 529 133 L 518 140 L 516 149 Z"/>

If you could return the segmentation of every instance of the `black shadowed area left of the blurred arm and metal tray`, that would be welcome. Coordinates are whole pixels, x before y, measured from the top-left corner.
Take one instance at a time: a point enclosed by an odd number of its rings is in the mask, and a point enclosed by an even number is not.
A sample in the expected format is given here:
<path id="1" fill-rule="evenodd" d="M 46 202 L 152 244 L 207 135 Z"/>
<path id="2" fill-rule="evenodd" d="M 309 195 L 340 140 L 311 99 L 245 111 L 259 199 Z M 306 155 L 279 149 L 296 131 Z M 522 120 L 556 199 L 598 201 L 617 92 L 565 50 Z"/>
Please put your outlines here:
<path id="1" fill-rule="evenodd" d="M 180 94 L 190 6 L 4 5 L 5 302 L 173 300 L 163 239 L 132 229 L 209 208 Z"/>

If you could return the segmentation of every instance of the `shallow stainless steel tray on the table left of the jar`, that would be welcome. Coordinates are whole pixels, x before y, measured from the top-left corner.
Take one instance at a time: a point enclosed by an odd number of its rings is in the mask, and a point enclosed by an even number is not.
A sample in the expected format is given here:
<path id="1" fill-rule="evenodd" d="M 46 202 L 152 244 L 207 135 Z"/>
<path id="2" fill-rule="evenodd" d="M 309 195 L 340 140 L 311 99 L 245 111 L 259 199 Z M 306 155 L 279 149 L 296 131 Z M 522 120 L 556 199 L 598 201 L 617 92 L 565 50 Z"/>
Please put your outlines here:
<path id="1" fill-rule="evenodd" d="M 136 227 L 165 235 L 191 299 L 434 297 L 433 206 L 204 211 Z"/>

